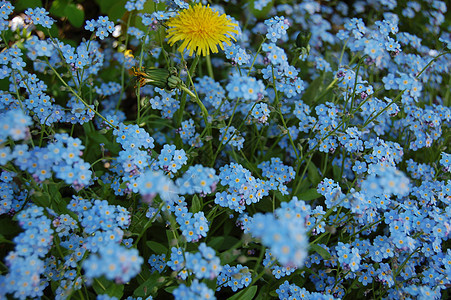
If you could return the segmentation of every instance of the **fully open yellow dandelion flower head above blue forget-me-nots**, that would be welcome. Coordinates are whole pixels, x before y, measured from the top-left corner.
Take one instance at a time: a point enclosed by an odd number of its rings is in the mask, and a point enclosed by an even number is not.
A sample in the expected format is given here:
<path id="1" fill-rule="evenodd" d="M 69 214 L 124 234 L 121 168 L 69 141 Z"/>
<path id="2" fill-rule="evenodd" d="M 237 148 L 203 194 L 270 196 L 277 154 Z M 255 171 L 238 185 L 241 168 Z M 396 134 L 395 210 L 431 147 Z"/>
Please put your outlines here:
<path id="1" fill-rule="evenodd" d="M 183 41 L 178 51 L 189 50 L 191 56 L 194 51 L 198 55 L 209 55 L 218 52 L 218 45 L 224 50 L 222 43 L 230 45 L 235 38 L 232 33 L 238 33 L 237 24 L 230 21 L 225 14 L 219 15 L 209 6 L 198 3 L 195 6 L 180 11 L 170 18 L 166 25 L 169 45 Z"/>

